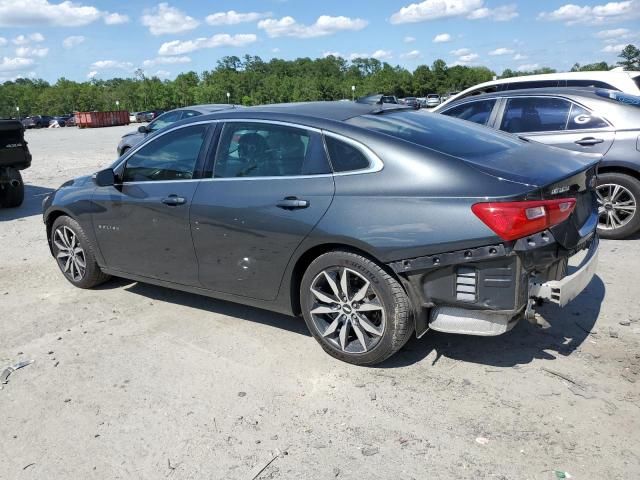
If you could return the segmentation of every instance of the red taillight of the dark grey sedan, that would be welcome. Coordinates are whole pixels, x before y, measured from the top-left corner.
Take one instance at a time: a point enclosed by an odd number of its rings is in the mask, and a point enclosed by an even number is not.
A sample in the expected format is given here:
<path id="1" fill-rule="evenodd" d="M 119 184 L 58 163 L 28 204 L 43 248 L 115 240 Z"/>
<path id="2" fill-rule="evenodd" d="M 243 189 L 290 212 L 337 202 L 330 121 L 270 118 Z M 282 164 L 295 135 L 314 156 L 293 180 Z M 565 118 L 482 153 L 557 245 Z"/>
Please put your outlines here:
<path id="1" fill-rule="evenodd" d="M 575 206 L 575 198 L 560 198 L 476 203 L 471 210 L 500 238 L 515 240 L 564 222 Z"/>

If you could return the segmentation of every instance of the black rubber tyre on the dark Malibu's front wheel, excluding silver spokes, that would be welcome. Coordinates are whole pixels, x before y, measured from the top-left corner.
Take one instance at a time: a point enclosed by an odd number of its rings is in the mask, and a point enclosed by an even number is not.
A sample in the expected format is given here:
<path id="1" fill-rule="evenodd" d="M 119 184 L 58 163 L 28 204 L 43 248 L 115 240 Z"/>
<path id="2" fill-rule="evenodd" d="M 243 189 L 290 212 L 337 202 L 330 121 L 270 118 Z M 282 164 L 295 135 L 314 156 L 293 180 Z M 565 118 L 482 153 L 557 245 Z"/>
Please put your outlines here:
<path id="1" fill-rule="evenodd" d="M 79 246 L 82 249 L 82 256 L 78 253 L 77 258 L 82 258 L 85 264 L 84 272 L 82 275 L 74 274 L 77 271 L 77 264 L 69 265 L 68 269 L 65 269 L 66 264 L 70 262 L 68 260 L 68 255 L 66 257 L 60 258 L 59 254 L 63 251 L 60 246 L 69 245 L 69 242 L 65 242 L 65 239 L 61 238 L 59 235 L 66 235 L 68 233 L 64 229 L 69 229 L 75 235 L 77 241 L 79 242 Z M 58 233 L 60 232 L 60 233 Z M 65 237 L 68 238 L 68 237 Z M 107 275 L 100 270 L 98 263 L 96 262 L 96 257 L 93 249 L 93 245 L 87 238 L 87 235 L 84 233 L 84 230 L 80 226 L 78 222 L 76 222 L 73 218 L 67 217 L 65 215 L 56 218 L 51 226 L 51 249 L 53 251 L 53 256 L 56 259 L 56 263 L 58 267 L 60 267 L 60 271 L 64 275 L 71 284 L 78 288 L 93 288 L 101 283 L 106 282 L 111 278 L 111 275 Z M 73 263 L 73 262 L 71 262 Z"/>

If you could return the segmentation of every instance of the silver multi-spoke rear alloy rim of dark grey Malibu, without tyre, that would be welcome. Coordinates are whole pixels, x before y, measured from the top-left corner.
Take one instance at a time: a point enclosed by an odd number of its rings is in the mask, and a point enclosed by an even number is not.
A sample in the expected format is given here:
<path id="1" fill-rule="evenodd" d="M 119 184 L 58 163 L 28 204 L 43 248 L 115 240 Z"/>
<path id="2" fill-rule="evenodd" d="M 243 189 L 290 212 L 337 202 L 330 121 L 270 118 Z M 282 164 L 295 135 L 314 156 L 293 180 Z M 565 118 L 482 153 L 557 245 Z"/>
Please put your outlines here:
<path id="1" fill-rule="evenodd" d="M 322 337 L 345 353 L 366 353 L 385 330 L 385 311 L 371 282 L 346 267 L 320 272 L 309 295 L 312 321 Z"/>

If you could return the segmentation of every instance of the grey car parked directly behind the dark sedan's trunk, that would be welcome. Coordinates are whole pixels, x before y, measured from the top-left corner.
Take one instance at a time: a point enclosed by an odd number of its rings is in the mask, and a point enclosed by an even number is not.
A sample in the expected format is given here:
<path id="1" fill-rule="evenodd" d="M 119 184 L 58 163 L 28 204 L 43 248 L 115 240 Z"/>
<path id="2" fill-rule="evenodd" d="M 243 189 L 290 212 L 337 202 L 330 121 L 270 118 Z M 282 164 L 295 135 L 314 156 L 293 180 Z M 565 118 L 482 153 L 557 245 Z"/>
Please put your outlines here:
<path id="1" fill-rule="evenodd" d="M 440 113 L 602 155 L 598 233 L 621 239 L 640 230 L 640 97 L 612 90 L 540 88 L 478 95 L 452 102 Z"/>

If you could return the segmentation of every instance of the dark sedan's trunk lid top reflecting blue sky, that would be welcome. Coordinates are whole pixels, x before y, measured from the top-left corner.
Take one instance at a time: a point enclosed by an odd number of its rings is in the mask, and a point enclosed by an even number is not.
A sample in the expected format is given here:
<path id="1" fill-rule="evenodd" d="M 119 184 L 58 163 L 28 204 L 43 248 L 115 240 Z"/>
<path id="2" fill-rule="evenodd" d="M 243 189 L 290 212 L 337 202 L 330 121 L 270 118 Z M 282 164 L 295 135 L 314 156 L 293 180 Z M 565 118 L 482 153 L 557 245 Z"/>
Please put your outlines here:
<path id="1" fill-rule="evenodd" d="M 602 155 L 599 154 L 574 152 L 527 141 L 520 148 L 462 160 L 501 180 L 543 187 L 582 172 L 601 159 Z"/>

